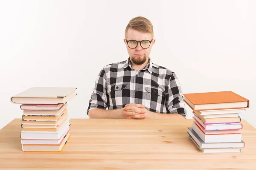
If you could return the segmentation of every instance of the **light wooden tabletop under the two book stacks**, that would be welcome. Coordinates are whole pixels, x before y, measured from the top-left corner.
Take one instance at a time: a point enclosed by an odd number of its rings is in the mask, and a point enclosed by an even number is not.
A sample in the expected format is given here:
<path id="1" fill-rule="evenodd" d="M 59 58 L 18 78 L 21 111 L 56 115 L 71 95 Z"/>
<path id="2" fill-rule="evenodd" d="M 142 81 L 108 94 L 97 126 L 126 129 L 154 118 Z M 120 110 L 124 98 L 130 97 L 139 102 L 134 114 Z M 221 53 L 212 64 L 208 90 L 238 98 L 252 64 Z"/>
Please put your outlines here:
<path id="1" fill-rule="evenodd" d="M 0 169 L 256 169 L 256 129 L 242 120 L 241 153 L 201 153 L 189 139 L 192 119 L 71 119 L 62 152 L 22 152 L 20 119 L 0 130 Z"/>

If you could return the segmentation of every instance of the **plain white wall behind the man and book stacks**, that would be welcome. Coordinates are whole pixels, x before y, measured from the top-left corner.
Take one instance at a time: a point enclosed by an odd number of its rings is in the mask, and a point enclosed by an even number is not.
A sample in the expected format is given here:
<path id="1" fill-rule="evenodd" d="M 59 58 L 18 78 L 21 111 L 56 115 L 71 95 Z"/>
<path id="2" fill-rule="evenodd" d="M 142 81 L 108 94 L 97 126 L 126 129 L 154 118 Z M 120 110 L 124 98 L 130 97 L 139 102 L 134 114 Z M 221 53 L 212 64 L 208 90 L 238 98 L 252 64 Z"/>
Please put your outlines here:
<path id="1" fill-rule="evenodd" d="M 96 77 L 128 58 L 125 27 L 139 15 L 154 26 L 152 61 L 175 71 L 183 93 L 240 94 L 250 99 L 240 116 L 256 127 L 255 8 L 254 0 L 1 0 L 0 128 L 21 118 L 10 97 L 30 87 L 77 87 L 69 115 L 88 118 Z"/>

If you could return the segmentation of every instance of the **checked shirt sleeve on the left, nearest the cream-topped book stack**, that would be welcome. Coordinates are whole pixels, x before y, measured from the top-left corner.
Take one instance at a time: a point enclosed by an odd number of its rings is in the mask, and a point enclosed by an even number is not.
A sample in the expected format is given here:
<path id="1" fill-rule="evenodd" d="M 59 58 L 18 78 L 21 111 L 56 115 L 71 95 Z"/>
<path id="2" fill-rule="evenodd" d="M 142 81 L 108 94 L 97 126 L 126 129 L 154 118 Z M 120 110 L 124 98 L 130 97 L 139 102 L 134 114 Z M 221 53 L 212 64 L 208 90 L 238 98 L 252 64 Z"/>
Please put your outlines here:
<path id="1" fill-rule="evenodd" d="M 93 93 L 91 95 L 91 99 L 89 101 L 89 107 L 87 109 L 87 115 L 88 112 L 94 108 L 102 108 L 106 109 L 107 106 L 107 89 L 106 89 L 106 73 L 105 69 L 103 68 L 96 81 L 95 81 L 95 87 L 93 90 Z"/>

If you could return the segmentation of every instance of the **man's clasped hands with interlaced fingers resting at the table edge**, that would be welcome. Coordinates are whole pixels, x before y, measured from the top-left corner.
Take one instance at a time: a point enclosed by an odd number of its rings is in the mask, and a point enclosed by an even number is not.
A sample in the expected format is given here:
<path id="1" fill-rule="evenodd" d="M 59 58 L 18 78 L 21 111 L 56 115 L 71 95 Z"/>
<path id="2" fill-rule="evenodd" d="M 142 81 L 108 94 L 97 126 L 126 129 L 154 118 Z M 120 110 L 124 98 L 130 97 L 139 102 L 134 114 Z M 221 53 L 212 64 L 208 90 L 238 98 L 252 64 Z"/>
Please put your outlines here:
<path id="1" fill-rule="evenodd" d="M 126 119 L 153 119 L 154 113 L 148 111 L 144 105 L 130 103 L 123 108 Z"/>

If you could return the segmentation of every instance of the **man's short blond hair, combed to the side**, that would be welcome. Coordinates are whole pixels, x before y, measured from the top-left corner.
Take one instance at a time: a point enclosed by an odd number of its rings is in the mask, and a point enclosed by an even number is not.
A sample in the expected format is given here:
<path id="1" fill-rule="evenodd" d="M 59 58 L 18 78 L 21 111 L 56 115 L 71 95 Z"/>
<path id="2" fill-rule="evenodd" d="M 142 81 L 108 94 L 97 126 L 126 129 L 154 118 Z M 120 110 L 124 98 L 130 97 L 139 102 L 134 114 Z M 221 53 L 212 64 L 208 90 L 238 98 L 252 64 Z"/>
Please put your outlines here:
<path id="1" fill-rule="evenodd" d="M 130 22 L 128 23 L 128 25 L 125 28 L 125 38 L 126 38 L 126 34 L 127 34 L 127 31 L 129 28 L 132 28 L 136 31 L 140 31 L 143 33 L 150 33 L 154 37 L 153 25 L 150 22 L 150 20 L 148 20 L 145 17 L 139 16 L 139 17 L 135 17 L 130 20 Z"/>

